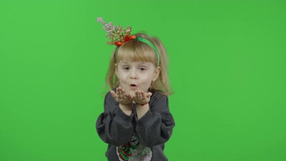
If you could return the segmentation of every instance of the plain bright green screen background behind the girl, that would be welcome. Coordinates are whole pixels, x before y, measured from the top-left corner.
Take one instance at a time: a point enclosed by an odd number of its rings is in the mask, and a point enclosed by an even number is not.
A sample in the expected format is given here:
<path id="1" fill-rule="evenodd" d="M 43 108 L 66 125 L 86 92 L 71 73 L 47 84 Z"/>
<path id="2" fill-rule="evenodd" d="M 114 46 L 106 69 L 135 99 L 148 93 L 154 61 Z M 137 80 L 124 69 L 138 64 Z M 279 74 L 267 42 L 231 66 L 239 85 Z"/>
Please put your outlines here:
<path id="1" fill-rule="evenodd" d="M 286 161 L 284 0 L 1 0 L 1 161 L 107 160 L 99 16 L 166 46 L 170 161 Z"/>

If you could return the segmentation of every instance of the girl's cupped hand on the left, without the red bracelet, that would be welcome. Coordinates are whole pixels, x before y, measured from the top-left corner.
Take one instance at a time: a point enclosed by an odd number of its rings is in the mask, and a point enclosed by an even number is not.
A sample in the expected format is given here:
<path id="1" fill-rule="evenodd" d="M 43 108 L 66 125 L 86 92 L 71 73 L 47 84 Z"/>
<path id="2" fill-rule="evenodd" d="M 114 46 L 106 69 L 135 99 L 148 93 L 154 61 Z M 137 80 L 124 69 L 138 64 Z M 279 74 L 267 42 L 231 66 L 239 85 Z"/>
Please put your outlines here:
<path id="1" fill-rule="evenodd" d="M 131 98 L 130 94 L 127 94 L 126 90 L 122 87 L 116 88 L 116 93 L 111 90 L 112 97 L 122 105 L 129 105 L 132 103 L 133 99 Z"/>

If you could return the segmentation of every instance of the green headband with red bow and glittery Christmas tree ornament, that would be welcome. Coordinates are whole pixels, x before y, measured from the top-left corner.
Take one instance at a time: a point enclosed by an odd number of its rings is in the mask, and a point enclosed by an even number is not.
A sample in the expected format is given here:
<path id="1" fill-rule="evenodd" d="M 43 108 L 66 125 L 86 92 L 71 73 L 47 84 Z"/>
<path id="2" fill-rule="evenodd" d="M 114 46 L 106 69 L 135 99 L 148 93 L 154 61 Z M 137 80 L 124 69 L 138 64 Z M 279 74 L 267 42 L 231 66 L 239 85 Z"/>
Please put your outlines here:
<path id="1" fill-rule="evenodd" d="M 115 63 L 116 63 L 115 54 L 116 54 L 117 49 L 121 45 L 123 45 L 124 43 L 126 43 L 128 41 L 137 40 L 137 41 L 141 41 L 141 42 L 148 44 L 150 47 L 152 47 L 155 50 L 156 55 L 157 55 L 157 59 L 158 59 L 158 66 L 159 66 L 160 57 L 159 57 L 159 52 L 158 52 L 157 48 L 155 47 L 155 45 L 153 43 L 151 43 L 149 40 L 144 39 L 142 37 L 136 37 L 135 35 L 129 36 L 131 33 L 131 27 L 130 26 L 127 26 L 126 29 L 122 28 L 121 25 L 116 27 L 113 25 L 112 22 L 105 23 L 105 21 L 103 20 L 102 17 L 98 17 L 97 22 L 101 22 L 104 25 L 103 30 L 105 30 L 107 32 L 106 37 L 108 37 L 110 39 L 110 41 L 108 41 L 107 44 L 117 46 L 115 49 L 115 52 L 114 52 Z"/>

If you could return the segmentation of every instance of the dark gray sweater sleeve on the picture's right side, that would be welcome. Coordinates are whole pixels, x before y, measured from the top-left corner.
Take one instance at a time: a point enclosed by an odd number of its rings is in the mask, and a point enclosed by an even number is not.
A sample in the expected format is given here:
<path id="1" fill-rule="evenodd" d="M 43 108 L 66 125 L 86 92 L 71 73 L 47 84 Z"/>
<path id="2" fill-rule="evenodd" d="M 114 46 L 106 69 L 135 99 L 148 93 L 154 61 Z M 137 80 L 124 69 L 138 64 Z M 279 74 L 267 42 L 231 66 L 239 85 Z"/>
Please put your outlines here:
<path id="1" fill-rule="evenodd" d="M 149 110 L 136 122 L 139 142 L 146 147 L 167 142 L 173 132 L 175 121 L 169 111 L 168 97 L 155 93 L 149 101 Z"/>

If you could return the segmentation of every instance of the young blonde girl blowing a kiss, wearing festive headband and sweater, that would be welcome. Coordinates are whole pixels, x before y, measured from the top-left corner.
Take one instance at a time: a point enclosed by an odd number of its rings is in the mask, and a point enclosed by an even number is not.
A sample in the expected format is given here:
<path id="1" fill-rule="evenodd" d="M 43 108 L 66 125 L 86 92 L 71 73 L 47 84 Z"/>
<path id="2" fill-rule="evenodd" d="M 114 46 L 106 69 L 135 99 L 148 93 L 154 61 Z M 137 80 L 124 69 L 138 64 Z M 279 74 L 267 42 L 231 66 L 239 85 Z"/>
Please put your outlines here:
<path id="1" fill-rule="evenodd" d="M 111 87 L 104 112 L 96 121 L 99 137 L 108 144 L 108 161 L 168 161 L 165 143 L 175 121 L 169 111 L 167 55 L 161 41 L 131 28 L 113 26 L 102 18 L 111 55 L 106 82 Z"/>

